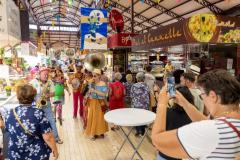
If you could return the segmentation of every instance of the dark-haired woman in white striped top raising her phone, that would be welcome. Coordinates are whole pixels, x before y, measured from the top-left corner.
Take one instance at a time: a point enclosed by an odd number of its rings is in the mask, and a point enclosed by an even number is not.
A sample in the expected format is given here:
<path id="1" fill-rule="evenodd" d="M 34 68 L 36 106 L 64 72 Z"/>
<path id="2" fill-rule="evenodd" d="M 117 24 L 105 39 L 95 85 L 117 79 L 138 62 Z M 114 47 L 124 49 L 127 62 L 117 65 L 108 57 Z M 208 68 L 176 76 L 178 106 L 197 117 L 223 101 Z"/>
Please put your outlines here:
<path id="1" fill-rule="evenodd" d="M 159 151 L 174 158 L 239 158 L 240 83 L 225 70 L 213 70 L 201 75 L 197 84 L 200 96 L 214 119 L 208 120 L 177 92 L 177 103 L 195 122 L 166 131 L 169 96 L 165 87 L 159 95 L 161 101 L 152 130 L 153 144 Z"/>

